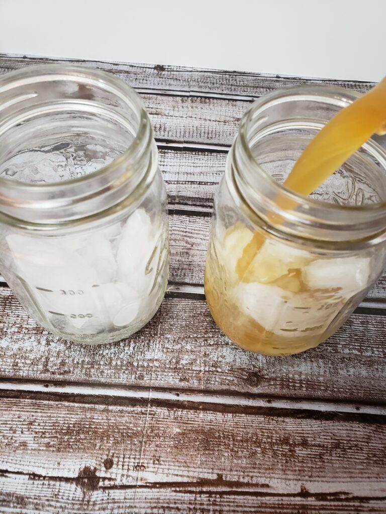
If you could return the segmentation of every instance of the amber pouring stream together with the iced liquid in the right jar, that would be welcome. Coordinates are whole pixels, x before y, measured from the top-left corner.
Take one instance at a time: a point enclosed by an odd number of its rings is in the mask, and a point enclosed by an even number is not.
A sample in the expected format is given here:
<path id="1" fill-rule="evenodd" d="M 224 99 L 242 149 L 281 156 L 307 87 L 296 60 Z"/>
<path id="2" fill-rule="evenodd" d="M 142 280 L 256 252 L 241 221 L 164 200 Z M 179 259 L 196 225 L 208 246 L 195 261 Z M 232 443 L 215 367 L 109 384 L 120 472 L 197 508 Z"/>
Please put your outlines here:
<path id="1" fill-rule="evenodd" d="M 383 80 L 325 125 L 284 185 L 312 193 L 372 134 L 384 132 L 385 121 Z M 280 194 L 276 205 L 282 211 L 296 209 Z M 268 218 L 280 226 L 279 215 Z M 333 334 L 363 298 L 377 268 L 371 252 L 313 251 L 262 229 L 252 230 L 240 219 L 230 226 L 216 220 L 205 294 L 215 321 L 233 341 L 261 354 L 290 355 Z"/>

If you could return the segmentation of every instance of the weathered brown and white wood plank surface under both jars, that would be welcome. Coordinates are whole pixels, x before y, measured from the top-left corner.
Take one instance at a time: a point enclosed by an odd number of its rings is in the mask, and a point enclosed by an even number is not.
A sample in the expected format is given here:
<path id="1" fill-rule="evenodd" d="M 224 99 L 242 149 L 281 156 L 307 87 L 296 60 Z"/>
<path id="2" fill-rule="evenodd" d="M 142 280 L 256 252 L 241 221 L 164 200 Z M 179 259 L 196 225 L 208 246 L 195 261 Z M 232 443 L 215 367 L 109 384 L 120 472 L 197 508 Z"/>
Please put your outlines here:
<path id="1" fill-rule="evenodd" d="M 0 56 L 0 72 L 46 62 Z M 0 284 L 0 512 L 386 512 L 386 278 L 325 344 L 282 358 L 234 345 L 203 295 L 239 119 L 258 96 L 308 80 L 59 62 L 112 72 L 148 108 L 169 194 L 170 285 L 140 332 L 90 347 L 40 328 Z"/>

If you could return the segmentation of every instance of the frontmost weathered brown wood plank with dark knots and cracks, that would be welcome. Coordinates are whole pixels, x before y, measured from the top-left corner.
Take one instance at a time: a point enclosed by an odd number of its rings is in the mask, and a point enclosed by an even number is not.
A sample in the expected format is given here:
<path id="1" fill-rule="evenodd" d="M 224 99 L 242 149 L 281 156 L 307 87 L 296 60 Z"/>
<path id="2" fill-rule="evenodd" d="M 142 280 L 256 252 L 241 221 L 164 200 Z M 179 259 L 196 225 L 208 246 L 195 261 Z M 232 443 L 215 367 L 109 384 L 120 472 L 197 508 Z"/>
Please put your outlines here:
<path id="1" fill-rule="evenodd" d="M 278 414 L 4 397 L 0 505 L 224 514 L 236 506 L 386 507 L 386 425 L 378 418 Z"/>

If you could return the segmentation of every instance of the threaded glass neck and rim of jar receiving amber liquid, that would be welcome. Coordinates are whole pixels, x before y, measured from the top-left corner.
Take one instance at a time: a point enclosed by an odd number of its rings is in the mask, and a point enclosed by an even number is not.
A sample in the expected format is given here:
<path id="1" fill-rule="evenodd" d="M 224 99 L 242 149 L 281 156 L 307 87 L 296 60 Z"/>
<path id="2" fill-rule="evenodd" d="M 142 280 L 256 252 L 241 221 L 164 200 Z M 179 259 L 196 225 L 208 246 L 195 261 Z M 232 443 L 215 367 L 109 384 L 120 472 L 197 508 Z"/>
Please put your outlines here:
<path id="1" fill-rule="evenodd" d="M 229 157 L 231 163 L 228 168 L 232 168 L 230 174 L 236 183 L 238 194 L 243 197 L 248 207 L 255 214 L 258 216 L 262 214 L 262 217 L 265 217 L 265 211 L 274 211 L 279 216 L 287 219 L 289 223 L 301 224 L 305 234 L 308 232 L 305 228 L 307 225 L 310 230 L 315 227 L 323 227 L 325 230 L 329 230 L 329 235 L 331 235 L 331 230 L 337 230 L 339 225 L 340 231 L 344 232 L 353 223 L 367 233 L 375 233 L 385 229 L 386 200 L 381 199 L 381 201 L 376 203 L 364 205 L 342 205 L 296 193 L 288 189 L 283 183 L 275 180 L 261 166 L 253 154 L 253 146 L 256 141 L 259 138 L 262 141 L 267 135 L 274 134 L 278 127 L 278 122 L 275 124 L 275 122 L 267 121 L 271 116 L 270 109 L 272 110 L 272 108 L 278 108 L 277 106 L 279 106 L 286 113 L 287 117 L 282 118 L 280 121 L 283 127 L 287 129 L 293 127 L 300 130 L 301 127 L 307 128 L 312 126 L 320 130 L 328 120 L 323 120 L 322 115 L 318 115 L 319 118 L 317 118 L 311 113 L 310 115 L 306 114 L 303 119 L 295 122 L 296 110 L 291 111 L 291 107 L 288 107 L 291 105 L 291 102 L 293 104 L 303 102 L 305 105 L 307 103 L 312 103 L 314 106 L 320 105 L 321 112 L 325 105 L 338 111 L 360 96 L 360 93 L 357 91 L 346 90 L 341 87 L 302 85 L 278 89 L 260 97 L 252 104 L 240 121 L 239 132 L 231 151 L 232 155 Z M 306 111 L 304 112 L 306 113 Z M 362 148 L 366 148 L 370 154 L 376 155 L 380 162 L 380 167 L 385 172 L 384 183 L 386 188 L 386 151 L 379 144 L 379 142 L 384 144 L 385 139 L 373 136 Z M 288 211 L 280 210 L 275 205 L 275 200 L 278 197 L 283 200 L 283 204 L 296 207 Z M 384 198 L 386 199 L 386 194 L 384 194 Z M 262 200 L 265 203 L 263 209 L 261 209 Z M 269 219 L 268 214 L 266 219 Z M 299 226 L 297 228 L 299 229 Z M 349 237 L 363 237 L 364 234 L 362 232 L 352 233 Z M 321 238 L 324 238 L 324 235 L 320 233 Z M 343 240 L 346 236 L 347 233 L 342 233 L 338 237 L 340 240 Z"/>

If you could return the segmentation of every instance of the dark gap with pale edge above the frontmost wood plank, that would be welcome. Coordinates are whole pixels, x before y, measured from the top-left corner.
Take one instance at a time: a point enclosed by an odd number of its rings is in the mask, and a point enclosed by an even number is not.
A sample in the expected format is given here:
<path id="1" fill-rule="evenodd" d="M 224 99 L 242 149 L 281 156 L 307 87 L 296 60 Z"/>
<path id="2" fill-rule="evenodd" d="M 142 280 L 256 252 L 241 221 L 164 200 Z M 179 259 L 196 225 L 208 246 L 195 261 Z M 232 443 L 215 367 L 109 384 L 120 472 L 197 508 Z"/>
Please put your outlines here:
<path id="1" fill-rule="evenodd" d="M 44 401 L 101 403 L 102 405 L 154 404 L 174 409 L 267 414 L 339 420 L 358 419 L 386 424 L 386 405 L 328 400 L 286 399 L 233 392 L 178 391 L 163 388 L 130 388 L 107 384 L 47 382 L 43 380 L 0 379 L 1 397 L 23 397 Z"/>

